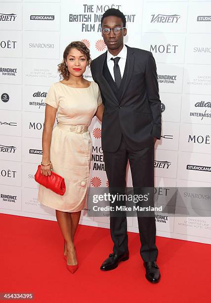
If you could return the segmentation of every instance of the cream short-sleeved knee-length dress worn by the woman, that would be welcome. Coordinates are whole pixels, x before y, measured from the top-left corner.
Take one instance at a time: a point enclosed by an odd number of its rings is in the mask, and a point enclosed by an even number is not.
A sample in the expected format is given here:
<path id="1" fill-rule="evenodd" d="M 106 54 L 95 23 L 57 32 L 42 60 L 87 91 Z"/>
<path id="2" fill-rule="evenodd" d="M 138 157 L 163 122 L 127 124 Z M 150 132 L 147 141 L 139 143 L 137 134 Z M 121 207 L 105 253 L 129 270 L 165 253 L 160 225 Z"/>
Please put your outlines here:
<path id="1" fill-rule="evenodd" d="M 60 211 L 80 211 L 86 200 L 90 170 L 90 133 L 75 133 L 59 125 L 89 126 L 97 106 L 102 103 L 100 90 L 95 82 L 90 82 L 88 88 L 72 88 L 57 82 L 50 87 L 45 102 L 58 108 L 50 159 L 53 171 L 65 179 L 66 192 L 60 196 L 40 185 L 38 201 Z"/>

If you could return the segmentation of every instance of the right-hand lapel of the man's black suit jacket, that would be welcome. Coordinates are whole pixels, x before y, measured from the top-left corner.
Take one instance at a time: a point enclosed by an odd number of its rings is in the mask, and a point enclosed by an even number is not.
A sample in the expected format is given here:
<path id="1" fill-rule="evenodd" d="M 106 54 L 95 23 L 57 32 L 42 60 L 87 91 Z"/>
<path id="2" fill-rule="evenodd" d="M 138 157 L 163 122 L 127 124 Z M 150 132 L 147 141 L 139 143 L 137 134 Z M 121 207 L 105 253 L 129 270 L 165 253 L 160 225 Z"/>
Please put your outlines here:
<path id="1" fill-rule="evenodd" d="M 132 50 L 130 47 L 127 47 L 127 59 L 126 59 L 126 66 L 125 66 L 125 70 L 124 70 L 124 75 L 123 75 L 123 79 L 120 85 L 120 102 L 122 101 L 122 98 L 125 94 L 125 91 L 127 89 L 127 85 L 129 84 L 129 81 L 131 79 L 132 76 L 132 72 L 133 72 L 133 66 L 134 66 L 134 50 Z"/>

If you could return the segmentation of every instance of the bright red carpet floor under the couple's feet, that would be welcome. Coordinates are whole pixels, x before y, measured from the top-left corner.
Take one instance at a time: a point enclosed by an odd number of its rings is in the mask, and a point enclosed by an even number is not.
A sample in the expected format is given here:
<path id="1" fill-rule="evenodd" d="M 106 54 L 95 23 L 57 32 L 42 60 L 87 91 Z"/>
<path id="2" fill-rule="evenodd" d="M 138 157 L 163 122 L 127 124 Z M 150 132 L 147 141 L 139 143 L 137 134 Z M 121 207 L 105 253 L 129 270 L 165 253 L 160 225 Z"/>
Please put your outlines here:
<path id="1" fill-rule="evenodd" d="M 129 233 L 129 260 L 102 272 L 112 252 L 109 230 L 80 225 L 79 269 L 72 275 L 57 222 L 0 214 L 0 232 L 1 293 L 34 293 L 32 302 L 42 303 L 210 302 L 211 245 L 157 237 L 162 277 L 151 284 L 138 234 Z"/>

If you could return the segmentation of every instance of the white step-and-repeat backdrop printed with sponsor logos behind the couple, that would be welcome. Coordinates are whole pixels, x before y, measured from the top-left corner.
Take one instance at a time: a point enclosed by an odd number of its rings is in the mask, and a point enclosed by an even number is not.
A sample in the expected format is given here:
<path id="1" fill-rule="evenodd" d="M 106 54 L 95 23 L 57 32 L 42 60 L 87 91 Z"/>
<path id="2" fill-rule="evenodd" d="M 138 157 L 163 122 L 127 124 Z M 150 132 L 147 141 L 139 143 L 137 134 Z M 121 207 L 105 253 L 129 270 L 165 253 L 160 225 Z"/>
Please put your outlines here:
<path id="1" fill-rule="evenodd" d="M 155 155 L 157 197 L 169 199 L 169 188 L 186 187 L 184 201 L 211 203 L 211 196 L 196 190 L 211 186 L 211 1 L 0 0 L 1 213 L 55 220 L 55 211 L 37 201 L 34 180 L 45 97 L 59 81 L 57 64 L 71 41 L 83 41 L 92 58 L 106 51 L 100 19 L 111 7 L 126 15 L 125 43 L 150 50 L 157 62 L 163 120 Z M 89 68 L 84 76 L 92 80 Z M 90 187 L 106 187 L 101 124 L 93 119 L 89 129 Z M 88 211 L 82 224 L 109 228 L 109 217 L 89 217 Z M 166 214 L 156 221 L 158 236 L 211 243 L 211 217 Z M 128 231 L 138 232 L 136 217 L 128 217 Z"/>

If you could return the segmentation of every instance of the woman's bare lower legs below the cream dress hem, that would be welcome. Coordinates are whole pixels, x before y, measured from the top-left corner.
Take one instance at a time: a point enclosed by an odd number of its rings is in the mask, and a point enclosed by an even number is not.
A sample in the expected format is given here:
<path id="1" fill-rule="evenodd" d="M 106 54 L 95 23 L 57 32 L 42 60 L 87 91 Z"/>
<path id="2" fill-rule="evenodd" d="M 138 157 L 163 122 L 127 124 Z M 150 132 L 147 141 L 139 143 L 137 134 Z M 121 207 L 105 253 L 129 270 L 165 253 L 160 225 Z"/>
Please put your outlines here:
<path id="1" fill-rule="evenodd" d="M 78 264 L 78 261 L 77 261 L 76 251 L 72 239 L 71 214 L 69 212 L 56 210 L 56 219 L 66 242 L 67 264 L 76 265 Z"/>

